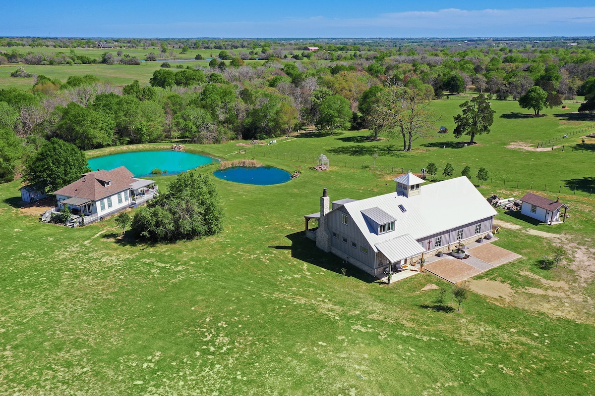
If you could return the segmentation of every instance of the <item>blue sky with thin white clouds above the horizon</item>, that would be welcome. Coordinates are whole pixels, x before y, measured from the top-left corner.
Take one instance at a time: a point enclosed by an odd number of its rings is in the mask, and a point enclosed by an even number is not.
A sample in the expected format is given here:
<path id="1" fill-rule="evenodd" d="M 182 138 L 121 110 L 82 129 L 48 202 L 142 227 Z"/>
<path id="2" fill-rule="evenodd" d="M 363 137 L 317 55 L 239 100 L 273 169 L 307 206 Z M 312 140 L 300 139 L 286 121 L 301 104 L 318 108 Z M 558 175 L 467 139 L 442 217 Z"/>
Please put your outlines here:
<path id="1" fill-rule="evenodd" d="M 587 4 L 589 2 L 581 2 Z M 31 0 L 0 7 L 1 36 L 595 36 L 595 7 L 553 0 Z"/>

